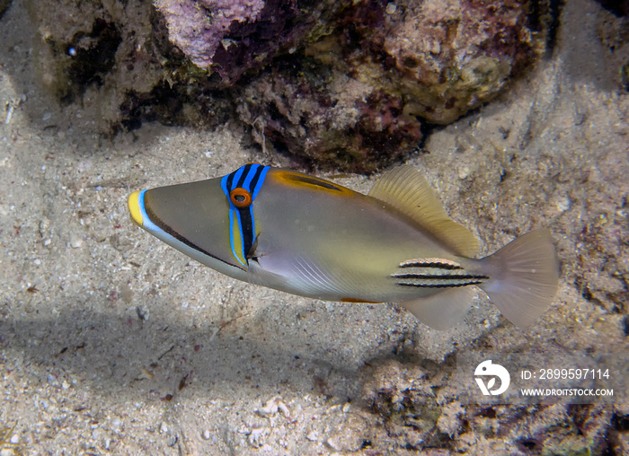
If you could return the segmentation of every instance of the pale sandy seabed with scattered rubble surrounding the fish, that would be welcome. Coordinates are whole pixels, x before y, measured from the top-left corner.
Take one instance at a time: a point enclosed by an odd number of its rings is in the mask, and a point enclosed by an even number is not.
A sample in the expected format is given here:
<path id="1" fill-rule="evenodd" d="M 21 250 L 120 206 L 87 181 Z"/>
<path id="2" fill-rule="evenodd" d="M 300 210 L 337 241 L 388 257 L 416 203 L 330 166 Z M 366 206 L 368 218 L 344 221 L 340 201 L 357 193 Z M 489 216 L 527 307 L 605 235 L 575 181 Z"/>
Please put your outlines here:
<path id="1" fill-rule="evenodd" d="M 0 22 L 1 455 L 629 453 L 626 396 L 483 408 L 452 381 L 455 355 L 478 350 L 629 352 L 629 99 L 597 4 L 566 2 L 554 56 L 410 160 L 484 254 L 548 227 L 563 264 L 534 327 L 479 292 L 439 332 L 394 304 L 236 282 L 131 224 L 130 191 L 288 161 L 231 124 L 93 132 L 38 89 L 14 3 Z M 377 176 L 333 179 L 367 192 Z"/>

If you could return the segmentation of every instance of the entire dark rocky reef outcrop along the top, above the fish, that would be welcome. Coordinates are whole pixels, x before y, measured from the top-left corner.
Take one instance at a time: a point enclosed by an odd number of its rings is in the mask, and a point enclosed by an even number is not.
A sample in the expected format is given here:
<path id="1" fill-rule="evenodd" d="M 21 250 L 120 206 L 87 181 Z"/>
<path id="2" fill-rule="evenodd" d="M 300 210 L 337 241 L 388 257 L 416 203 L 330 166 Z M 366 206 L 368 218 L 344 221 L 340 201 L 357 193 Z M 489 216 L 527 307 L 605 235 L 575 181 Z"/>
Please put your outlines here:
<path id="1" fill-rule="evenodd" d="M 31 0 L 44 85 L 87 98 L 104 125 L 238 118 L 263 149 L 359 172 L 491 101 L 543 54 L 558 13 L 521 0 L 55 5 Z"/>

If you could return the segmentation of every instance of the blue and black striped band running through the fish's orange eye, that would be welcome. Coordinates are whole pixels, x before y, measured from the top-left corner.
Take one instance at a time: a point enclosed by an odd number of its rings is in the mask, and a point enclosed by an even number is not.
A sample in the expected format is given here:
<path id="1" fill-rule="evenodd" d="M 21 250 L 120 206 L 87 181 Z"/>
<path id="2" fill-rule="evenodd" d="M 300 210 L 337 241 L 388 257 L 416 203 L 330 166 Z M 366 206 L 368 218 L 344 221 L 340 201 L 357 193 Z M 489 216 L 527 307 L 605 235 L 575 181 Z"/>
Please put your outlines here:
<path id="1" fill-rule="evenodd" d="M 229 201 L 229 242 L 232 254 L 245 269 L 249 266 L 247 256 L 252 250 L 256 237 L 253 201 L 258 196 L 269 169 L 270 166 L 249 163 L 221 179 L 221 188 Z M 246 206 L 235 205 L 232 198 L 233 192 L 238 193 L 239 196 L 248 194 L 250 200 L 244 199 Z"/>

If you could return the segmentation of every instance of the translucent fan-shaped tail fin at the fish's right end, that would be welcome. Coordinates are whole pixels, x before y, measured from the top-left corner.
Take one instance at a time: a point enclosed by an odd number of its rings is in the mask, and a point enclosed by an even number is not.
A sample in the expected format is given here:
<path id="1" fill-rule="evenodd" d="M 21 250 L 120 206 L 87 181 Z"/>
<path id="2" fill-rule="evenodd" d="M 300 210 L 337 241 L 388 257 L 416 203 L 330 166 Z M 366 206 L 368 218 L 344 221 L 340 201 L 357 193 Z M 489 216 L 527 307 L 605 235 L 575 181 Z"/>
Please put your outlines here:
<path id="1" fill-rule="evenodd" d="M 528 232 L 479 262 L 491 277 L 479 286 L 516 326 L 531 325 L 553 303 L 559 261 L 548 230 Z"/>

